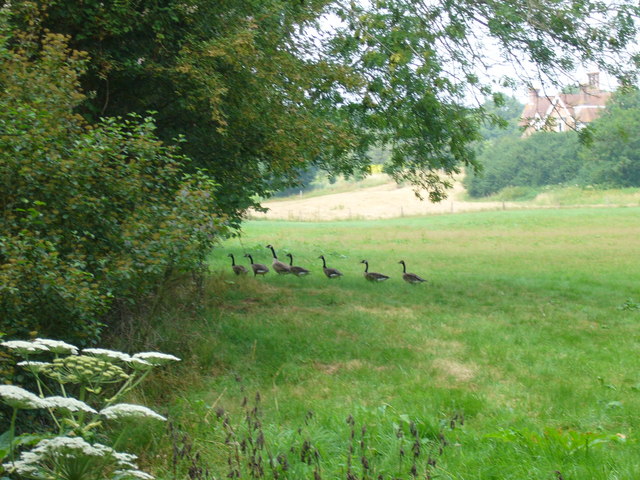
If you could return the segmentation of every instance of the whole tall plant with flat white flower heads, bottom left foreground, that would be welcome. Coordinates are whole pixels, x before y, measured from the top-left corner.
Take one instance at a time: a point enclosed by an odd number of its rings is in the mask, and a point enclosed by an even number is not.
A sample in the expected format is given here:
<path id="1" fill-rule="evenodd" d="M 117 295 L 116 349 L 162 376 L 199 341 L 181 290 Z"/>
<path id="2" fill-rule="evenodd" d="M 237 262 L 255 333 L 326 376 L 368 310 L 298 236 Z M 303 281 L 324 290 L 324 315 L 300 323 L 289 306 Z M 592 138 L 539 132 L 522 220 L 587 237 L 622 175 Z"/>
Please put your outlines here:
<path id="1" fill-rule="evenodd" d="M 117 440 L 113 446 L 102 442 L 108 438 L 107 426 L 118 420 L 166 420 L 143 405 L 119 401 L 154 367 L 178 361 L 177 357 L 100 348 L 85 348 L 80 354 L 76 346 L 50 339 L 0 345 L 24 358 L 18 365 L 33 375 L 38 390 L 36 395 L 17 385 L 0 385 L 0 399 L 12 410 L 9 430 L 0 436 L 0 460 L 5 460 L 2 468 L 7 473 L 34 480 L 153 478 L 139 470 L 135 455 L 116 450 Z M 49 361 L 41 361 L 43 355 Z M 16 436 L 18 412 L 34 409 L 48 412 L 51 431 Z"/>

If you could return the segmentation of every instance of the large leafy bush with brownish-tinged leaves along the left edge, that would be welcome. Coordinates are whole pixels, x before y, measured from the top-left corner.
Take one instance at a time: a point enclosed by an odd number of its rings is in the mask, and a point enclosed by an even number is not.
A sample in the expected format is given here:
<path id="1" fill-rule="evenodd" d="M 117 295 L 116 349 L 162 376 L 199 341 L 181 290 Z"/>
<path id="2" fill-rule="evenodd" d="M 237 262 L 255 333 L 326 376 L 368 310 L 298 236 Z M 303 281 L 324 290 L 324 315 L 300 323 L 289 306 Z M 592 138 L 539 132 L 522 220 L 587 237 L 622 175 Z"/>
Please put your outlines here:
<path id="1" fill-rule="evenodd" d="M 11 47 L 9 45 L 12 45 Z M 74 113 L 84 55 L 0 24 L 0 331 L 94 341 L 114 299 L 193 270 L 223 228 L 214 185 L 148 118 Z"/>

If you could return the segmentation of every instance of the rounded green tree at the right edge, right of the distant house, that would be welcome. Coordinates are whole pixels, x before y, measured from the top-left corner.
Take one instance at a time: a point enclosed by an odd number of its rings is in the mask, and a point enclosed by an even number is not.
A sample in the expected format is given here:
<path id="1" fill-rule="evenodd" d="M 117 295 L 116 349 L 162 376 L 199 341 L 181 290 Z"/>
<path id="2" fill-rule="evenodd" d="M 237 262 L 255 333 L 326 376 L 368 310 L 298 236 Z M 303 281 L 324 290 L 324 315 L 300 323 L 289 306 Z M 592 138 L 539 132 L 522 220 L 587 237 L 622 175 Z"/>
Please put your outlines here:
<path id="1" fill-rule="evenodd" d="M 640 187 L 640 92 L 622 89 L 593 123 L 594 139 L 584 153 L 592 184 Z"/>

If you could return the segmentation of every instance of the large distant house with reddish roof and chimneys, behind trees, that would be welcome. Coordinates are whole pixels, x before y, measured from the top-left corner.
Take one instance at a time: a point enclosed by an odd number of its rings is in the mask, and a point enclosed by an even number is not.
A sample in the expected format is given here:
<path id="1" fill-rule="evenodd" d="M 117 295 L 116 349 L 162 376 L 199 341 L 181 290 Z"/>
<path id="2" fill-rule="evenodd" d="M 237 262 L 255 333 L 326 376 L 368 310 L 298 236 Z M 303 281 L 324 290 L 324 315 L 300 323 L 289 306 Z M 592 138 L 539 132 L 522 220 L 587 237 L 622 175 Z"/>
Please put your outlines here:
<path id="1" fill-rule="evenodd" d="M 528 137 L 540 130 L 580 130 L 598 118 L 611 98 L 611 92 L 600 89 L 597 72 L 589 73 L 588 78 L 589 83 L 581 85 L 579 93 L 559 93 L 549 97 L 530 89 L 529 101 L 520 120 L 520 126 L 524 127 L 522 136 Z"/>

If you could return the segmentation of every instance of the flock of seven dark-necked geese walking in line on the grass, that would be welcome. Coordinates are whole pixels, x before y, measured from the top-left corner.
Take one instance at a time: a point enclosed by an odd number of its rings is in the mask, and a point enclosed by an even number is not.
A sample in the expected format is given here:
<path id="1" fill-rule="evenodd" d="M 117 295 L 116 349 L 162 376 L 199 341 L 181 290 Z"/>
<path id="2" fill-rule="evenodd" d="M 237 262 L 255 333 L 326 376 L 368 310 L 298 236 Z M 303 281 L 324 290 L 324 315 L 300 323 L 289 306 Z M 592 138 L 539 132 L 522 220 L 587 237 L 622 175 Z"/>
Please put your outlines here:
<path id="1" fill-rule="evenodd" d="M 307 270 L 304 267 L 294 265 L 293 255 L 291 255 L 290 253 L 287 253 L 286 255 L 287 257 L 289 257 L 289 264 L 287 265 L 286 263 L 278 260 L 278 256 L 276 255 L 276 250 L 275 248 L 273 248 L 273 245 L 267 245 L 265 248 L 271 249 L 271 254 L 273 255 L 273 263 L 271 264 L 271 266 L 273 267 L 273 269 L 277 274 L 279 275 L 293 274 L 296 277 L 304 277 L 305 275 L 309 275 L 309 273 L 311 273 L 309 270 Z M 231 257 L 231 269 L 236 275 L 246 275 L 247 273 L 249 273 L 249 270 L 244 265 L 236 264 L 236 259 L 234 258 L 233 253 L 230 253 L 227 256 Z M 267 273 L 269 273 L 269 267 L 267 267 L 262 263 L 255 263 L 253 261 L 253 257 L 250 254 L 246 253 L 244 256 L 249 259 L 249 262 L 251 262 L 251 269 L 253 270 L 254 277 L 257 275 L 266 275 Z M 324 255 L 320 255 L 318 258 L 322 259 L 322 271 L 327 276 L 327 278 L 342 277 L 342 272 L 340 272 L 340 270 L 327 267 L 327 261 L 325 260 Z M 384 275 L 382 273 L 370 272 L 368 261 L 362 260 L 360 263 L 364 263 L 365 265 L 364 278 L 366 278 L 370 282 L 384 282 L 385 280 L 388 280 L 390 278 L 388 275 Z M 405 265 L 404 260 L 400 260 L 398 263 L 402 264 L 402 279 L 405 282 L 410 283 L 412 285 L 426 282 L 424 278 L 420 277 L 419 275 L 416 275 L 415 273 L 407 273 L 407 266 Z"/>

